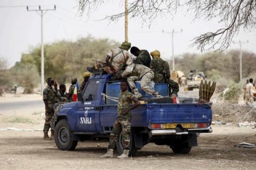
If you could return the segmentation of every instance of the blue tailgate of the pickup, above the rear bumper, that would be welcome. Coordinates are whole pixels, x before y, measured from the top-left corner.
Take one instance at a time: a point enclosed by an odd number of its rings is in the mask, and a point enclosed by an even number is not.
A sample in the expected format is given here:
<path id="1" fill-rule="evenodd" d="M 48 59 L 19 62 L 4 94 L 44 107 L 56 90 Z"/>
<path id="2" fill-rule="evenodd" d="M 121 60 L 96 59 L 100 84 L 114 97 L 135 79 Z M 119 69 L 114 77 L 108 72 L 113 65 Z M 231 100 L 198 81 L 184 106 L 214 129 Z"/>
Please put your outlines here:
<path id="1" fill-rule="evenodd" d="M 209 127 L 212 122 L 212 110 L 206 104 L 148 104 L 147 122 L 149 129 L 152 129 L 152 124 L 161 124 L 161 127 L 153 129 L 174 129 L 176 125 L 181 125 L 182 128 L 196 128 L 197 124 L 201 123 L 206 123 L 206 127 Z"/>

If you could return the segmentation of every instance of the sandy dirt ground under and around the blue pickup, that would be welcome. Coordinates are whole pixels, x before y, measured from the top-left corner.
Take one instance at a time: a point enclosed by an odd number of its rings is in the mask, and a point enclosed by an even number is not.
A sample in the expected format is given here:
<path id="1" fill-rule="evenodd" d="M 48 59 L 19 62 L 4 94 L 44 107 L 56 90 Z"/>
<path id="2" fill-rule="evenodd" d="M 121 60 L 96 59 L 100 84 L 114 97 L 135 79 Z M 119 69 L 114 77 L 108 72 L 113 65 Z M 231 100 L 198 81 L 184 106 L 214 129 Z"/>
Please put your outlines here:
<path id="1" fill-rule="evenodd" d="M 34 99 L 41 97 L 35 95 Z M 26 100 L 27 97 L 15 101 Z M 33 97 L 29 97 L 33 99 Z M 11 101 L 8 99 L 8 101 Z M 4 99 L 0 99 L 0 103 Z M 22 112 L 0 111 L 0 169 L 255 169 L 256 148 L 237 148 L 241 142 L 256 144 L 256 129 L 212 125 L 201 134 L 190 154 L 173 154 L 167 146 L 149 143 L 137 155 L 119 160 L 100 158 L 108 141 L 78 142 L 74 151 L 61 151 L 54 141 L 42 140 L 43 108 Z M 6 128 L 17 128 L 7 130 Z M 40 130 L 40 131 L 39 131 Z"/>

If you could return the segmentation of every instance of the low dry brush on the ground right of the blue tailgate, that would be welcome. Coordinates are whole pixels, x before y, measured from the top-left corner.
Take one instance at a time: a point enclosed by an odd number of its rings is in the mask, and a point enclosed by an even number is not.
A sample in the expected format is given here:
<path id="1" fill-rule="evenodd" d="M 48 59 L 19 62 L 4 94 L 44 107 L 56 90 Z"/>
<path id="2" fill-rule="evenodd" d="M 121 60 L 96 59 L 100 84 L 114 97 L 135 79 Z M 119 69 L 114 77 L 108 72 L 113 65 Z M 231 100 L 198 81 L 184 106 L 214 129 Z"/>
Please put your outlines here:
<path id="1" fill-rule="evenodd" d="M 256 121 L 256 108 L 247 105 L 215 103 L 212 105 L 213 121 L 239 123 Z M 219 115 L 219 117 L 214 116 Z"/>

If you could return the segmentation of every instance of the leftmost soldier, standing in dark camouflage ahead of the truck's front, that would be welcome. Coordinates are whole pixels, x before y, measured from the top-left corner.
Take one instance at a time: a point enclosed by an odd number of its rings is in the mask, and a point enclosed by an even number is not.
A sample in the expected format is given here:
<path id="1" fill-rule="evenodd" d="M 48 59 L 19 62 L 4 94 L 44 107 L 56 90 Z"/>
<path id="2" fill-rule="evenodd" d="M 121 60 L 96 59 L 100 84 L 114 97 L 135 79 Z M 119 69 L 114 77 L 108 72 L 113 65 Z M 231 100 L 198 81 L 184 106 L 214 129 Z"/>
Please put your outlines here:
<path id="1" fill-rule="evenodd" d="M 56 94 L 52 88 L 54 84 L 54 80 L 52 78 L 48 78 L 46 80 L 47 86 L 43 91 L 43 101 L 45 105 L 45 123 L 44 123 L 44 138 L 45 140 L 50 140 L 48 131 L 51 128 L 50 121 L 53 116 L 54 110 L 53 105 L 55 104 Z M 54 138 L 54 131 L 51 130 L 51 138 Z"/>

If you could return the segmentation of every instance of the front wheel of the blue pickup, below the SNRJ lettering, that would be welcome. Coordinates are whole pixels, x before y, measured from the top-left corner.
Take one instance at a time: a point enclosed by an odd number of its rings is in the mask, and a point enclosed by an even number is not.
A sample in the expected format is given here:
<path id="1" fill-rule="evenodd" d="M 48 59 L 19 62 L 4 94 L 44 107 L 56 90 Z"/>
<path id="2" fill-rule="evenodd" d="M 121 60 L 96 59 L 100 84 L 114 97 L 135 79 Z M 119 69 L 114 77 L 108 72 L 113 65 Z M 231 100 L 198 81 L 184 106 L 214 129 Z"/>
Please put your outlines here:
<path id="1" fill-rule="evenodd" d="M 60 120 L 55 126 L 54 140 L 60 150 L 74 150 L 77 140 L 73 140 L 67 120 Z"/>

